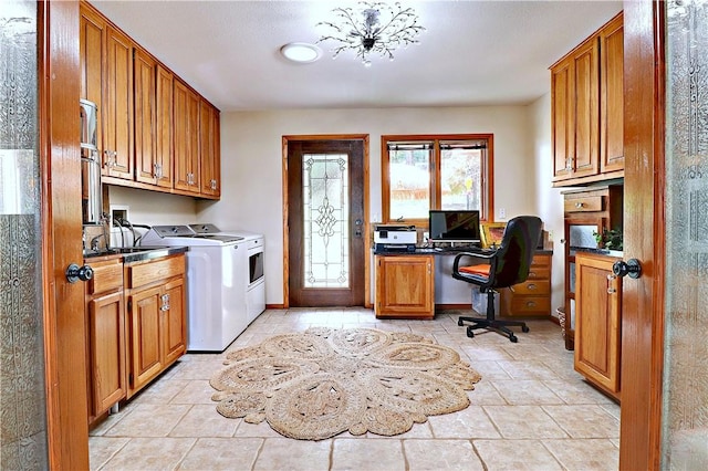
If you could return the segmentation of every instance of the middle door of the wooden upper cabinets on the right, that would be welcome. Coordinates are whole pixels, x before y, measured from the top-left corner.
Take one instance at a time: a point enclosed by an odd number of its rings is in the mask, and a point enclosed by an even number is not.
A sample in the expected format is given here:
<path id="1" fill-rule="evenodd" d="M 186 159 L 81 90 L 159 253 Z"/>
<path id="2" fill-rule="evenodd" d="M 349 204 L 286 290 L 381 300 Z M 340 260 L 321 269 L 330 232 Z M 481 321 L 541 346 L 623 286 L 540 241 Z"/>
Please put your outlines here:
<path id="1" fill-rule="evenodd" d="M 600 158 L 600 57 L 596 38 L 573 55 L 573 177 L 597 174 Z"/>

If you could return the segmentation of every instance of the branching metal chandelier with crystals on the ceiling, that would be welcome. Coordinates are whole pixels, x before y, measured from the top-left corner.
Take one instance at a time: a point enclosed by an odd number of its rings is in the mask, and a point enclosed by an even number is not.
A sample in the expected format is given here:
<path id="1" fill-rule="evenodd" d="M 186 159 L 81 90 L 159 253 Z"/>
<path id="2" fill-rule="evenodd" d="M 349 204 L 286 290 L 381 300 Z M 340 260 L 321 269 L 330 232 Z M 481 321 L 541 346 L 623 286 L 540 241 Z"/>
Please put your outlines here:
<path id="1" fill-rule="evenodd" d="M 394 51 L 399 46 L 418 44 L 416 36 L 425 31 L 418 22 L 413 8 L 394 7 L 383 2 L 358 3 L 357 9 L 335 8 L 333 21 L 322 21 L 317 27 L 329 28 L 329 33 L 317 42 L 335 41 L 339 45 L 332 51 L 336 57 L 342 51 L 352 50 L 369 66 L 369 54 L 378 53 L 394 60 Z"/>

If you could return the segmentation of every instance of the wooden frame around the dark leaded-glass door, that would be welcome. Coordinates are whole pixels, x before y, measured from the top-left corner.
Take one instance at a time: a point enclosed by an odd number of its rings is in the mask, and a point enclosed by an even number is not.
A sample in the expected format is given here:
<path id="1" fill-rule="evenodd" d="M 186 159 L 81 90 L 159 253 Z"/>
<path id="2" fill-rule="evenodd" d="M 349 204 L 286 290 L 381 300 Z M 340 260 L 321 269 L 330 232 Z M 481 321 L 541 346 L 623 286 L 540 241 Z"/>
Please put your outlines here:
<path id="1" fill-rule="evenodd" d="M 290 229 L 288 218 L 290 216 L 290 201 L 288 198 L 288 144 L 291 140 L 361 140 L 364 146 L 364 306 L 372 307 L 371 301 L 371 228 L 368 221 L 368 134 L 314 134 L 314 135 L 288 135 L 282 138 L 282 185 L 283 185 L 283 307 L 290 307 Z"/>

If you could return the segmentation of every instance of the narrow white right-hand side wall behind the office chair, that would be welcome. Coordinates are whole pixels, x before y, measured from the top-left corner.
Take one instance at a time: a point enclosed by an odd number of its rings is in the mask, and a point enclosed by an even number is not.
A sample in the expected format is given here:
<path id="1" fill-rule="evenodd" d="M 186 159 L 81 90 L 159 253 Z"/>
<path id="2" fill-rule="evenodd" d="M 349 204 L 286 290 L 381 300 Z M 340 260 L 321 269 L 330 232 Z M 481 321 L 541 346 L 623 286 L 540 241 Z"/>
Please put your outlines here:
<path id="1" fill-rule="evenodd" d="M 531 123 L 530 146 L 535 160 L 534 196 L 537 213 L 543 220 L 543 227 L 552 234 L 553 265 L 551 268 L 551 308 L 563 305 L 564 272 L 563 250 L 563 197 L 561 189 L 553 188 L 553 157 L 551 154 L 551 94 L 548 93 L 529 106 Z"/>

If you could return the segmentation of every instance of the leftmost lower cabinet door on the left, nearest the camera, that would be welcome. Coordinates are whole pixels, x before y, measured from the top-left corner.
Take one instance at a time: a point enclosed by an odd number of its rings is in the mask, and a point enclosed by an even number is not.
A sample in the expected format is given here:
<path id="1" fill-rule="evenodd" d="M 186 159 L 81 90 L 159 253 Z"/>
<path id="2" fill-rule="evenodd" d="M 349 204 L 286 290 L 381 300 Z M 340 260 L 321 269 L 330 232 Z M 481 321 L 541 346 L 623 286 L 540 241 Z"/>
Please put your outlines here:
<path id="1" fill-rule="evenodd" d="M 88 355 L 92 408 L 98 416 L 126 397 L 123 290 L 88 302 Z"/>

